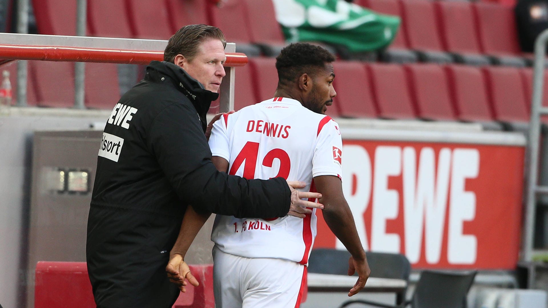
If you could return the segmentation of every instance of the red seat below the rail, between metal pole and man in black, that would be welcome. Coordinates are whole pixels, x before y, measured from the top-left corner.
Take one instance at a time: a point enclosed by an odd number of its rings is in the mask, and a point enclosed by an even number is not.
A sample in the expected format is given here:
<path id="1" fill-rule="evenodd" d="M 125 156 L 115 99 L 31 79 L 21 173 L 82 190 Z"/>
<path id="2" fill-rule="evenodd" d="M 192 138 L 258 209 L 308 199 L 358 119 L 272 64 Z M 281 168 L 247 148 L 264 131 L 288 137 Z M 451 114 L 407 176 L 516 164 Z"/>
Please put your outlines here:
<path id="1" fill-rule="evenodd" d="M 120 99 L 118 67 L 112 63 L 85 64 L 85 106 L 112 109 Z"/>

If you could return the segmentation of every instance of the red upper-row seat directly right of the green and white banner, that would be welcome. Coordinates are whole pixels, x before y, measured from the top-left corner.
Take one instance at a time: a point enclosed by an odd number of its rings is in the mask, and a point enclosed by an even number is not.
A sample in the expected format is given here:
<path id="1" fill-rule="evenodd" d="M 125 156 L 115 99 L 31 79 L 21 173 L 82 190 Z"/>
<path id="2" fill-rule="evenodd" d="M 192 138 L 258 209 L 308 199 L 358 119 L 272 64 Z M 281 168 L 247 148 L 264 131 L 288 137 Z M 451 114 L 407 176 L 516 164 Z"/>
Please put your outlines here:
<path id="1" fill-rule="evenodd" d="M 358 3 L 381 14 L 396 15 L 399 18 L 402 18 L 403 15 L 399 0 L 361 0 Z M 405 25 L 402 21 L 392 44 L 390 44 L 387 50 L 380 53 L 381 60 L 401 64 L 418 61 L 416 53 L 408 49 L 405 33 Z"/>

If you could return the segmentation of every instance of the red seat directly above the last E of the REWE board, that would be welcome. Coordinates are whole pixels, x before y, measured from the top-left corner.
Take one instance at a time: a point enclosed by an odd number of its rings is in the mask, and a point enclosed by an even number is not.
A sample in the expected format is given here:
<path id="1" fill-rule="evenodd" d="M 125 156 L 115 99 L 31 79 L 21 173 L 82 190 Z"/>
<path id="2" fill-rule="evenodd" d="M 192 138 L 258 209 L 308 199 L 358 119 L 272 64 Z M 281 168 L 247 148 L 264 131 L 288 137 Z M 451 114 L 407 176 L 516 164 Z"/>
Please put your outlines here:
<path id="1" fill-rule="evenodd" d="M 448 65 L 446 72 L 457 118 L 471 122 L 494 121 L 481 69 L 470 65 Z"/>

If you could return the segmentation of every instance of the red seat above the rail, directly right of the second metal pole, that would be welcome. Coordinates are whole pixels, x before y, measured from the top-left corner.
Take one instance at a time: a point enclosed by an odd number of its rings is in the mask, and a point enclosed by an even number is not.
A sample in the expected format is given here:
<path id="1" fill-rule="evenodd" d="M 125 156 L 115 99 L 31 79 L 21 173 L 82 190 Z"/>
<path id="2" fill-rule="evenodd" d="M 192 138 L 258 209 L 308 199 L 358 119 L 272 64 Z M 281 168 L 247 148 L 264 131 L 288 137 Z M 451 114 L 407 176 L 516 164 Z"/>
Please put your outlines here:
<path id="1" fill-rule="evenodd" d="M 88 1 L 88 30 L 91 36 L 132 38 L 128 11 L 123 1 Z"/>

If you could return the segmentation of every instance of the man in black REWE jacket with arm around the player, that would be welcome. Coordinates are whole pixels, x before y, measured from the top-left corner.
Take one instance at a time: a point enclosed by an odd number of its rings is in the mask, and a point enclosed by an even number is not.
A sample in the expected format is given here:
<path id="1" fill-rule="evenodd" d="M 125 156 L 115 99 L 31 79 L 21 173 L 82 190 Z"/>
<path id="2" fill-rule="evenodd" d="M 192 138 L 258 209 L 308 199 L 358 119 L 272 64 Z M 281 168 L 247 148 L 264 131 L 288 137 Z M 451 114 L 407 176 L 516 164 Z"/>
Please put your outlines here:
<path id="1" fill-rule="evenodd" d="M 301 200 L 321 195 L 298 192 L 282 178 L 246 180 L 211 162 L 206 113 L 225 76 L 224 45 L 218 28 L 182 27 L 164 61 L 151 62 L 107 120 L 86 249 L 98 307 L 173 305 L 179 290 L 164 269 L 189 204 L 197 212 L 260 218 L 322 208 Z"/>

